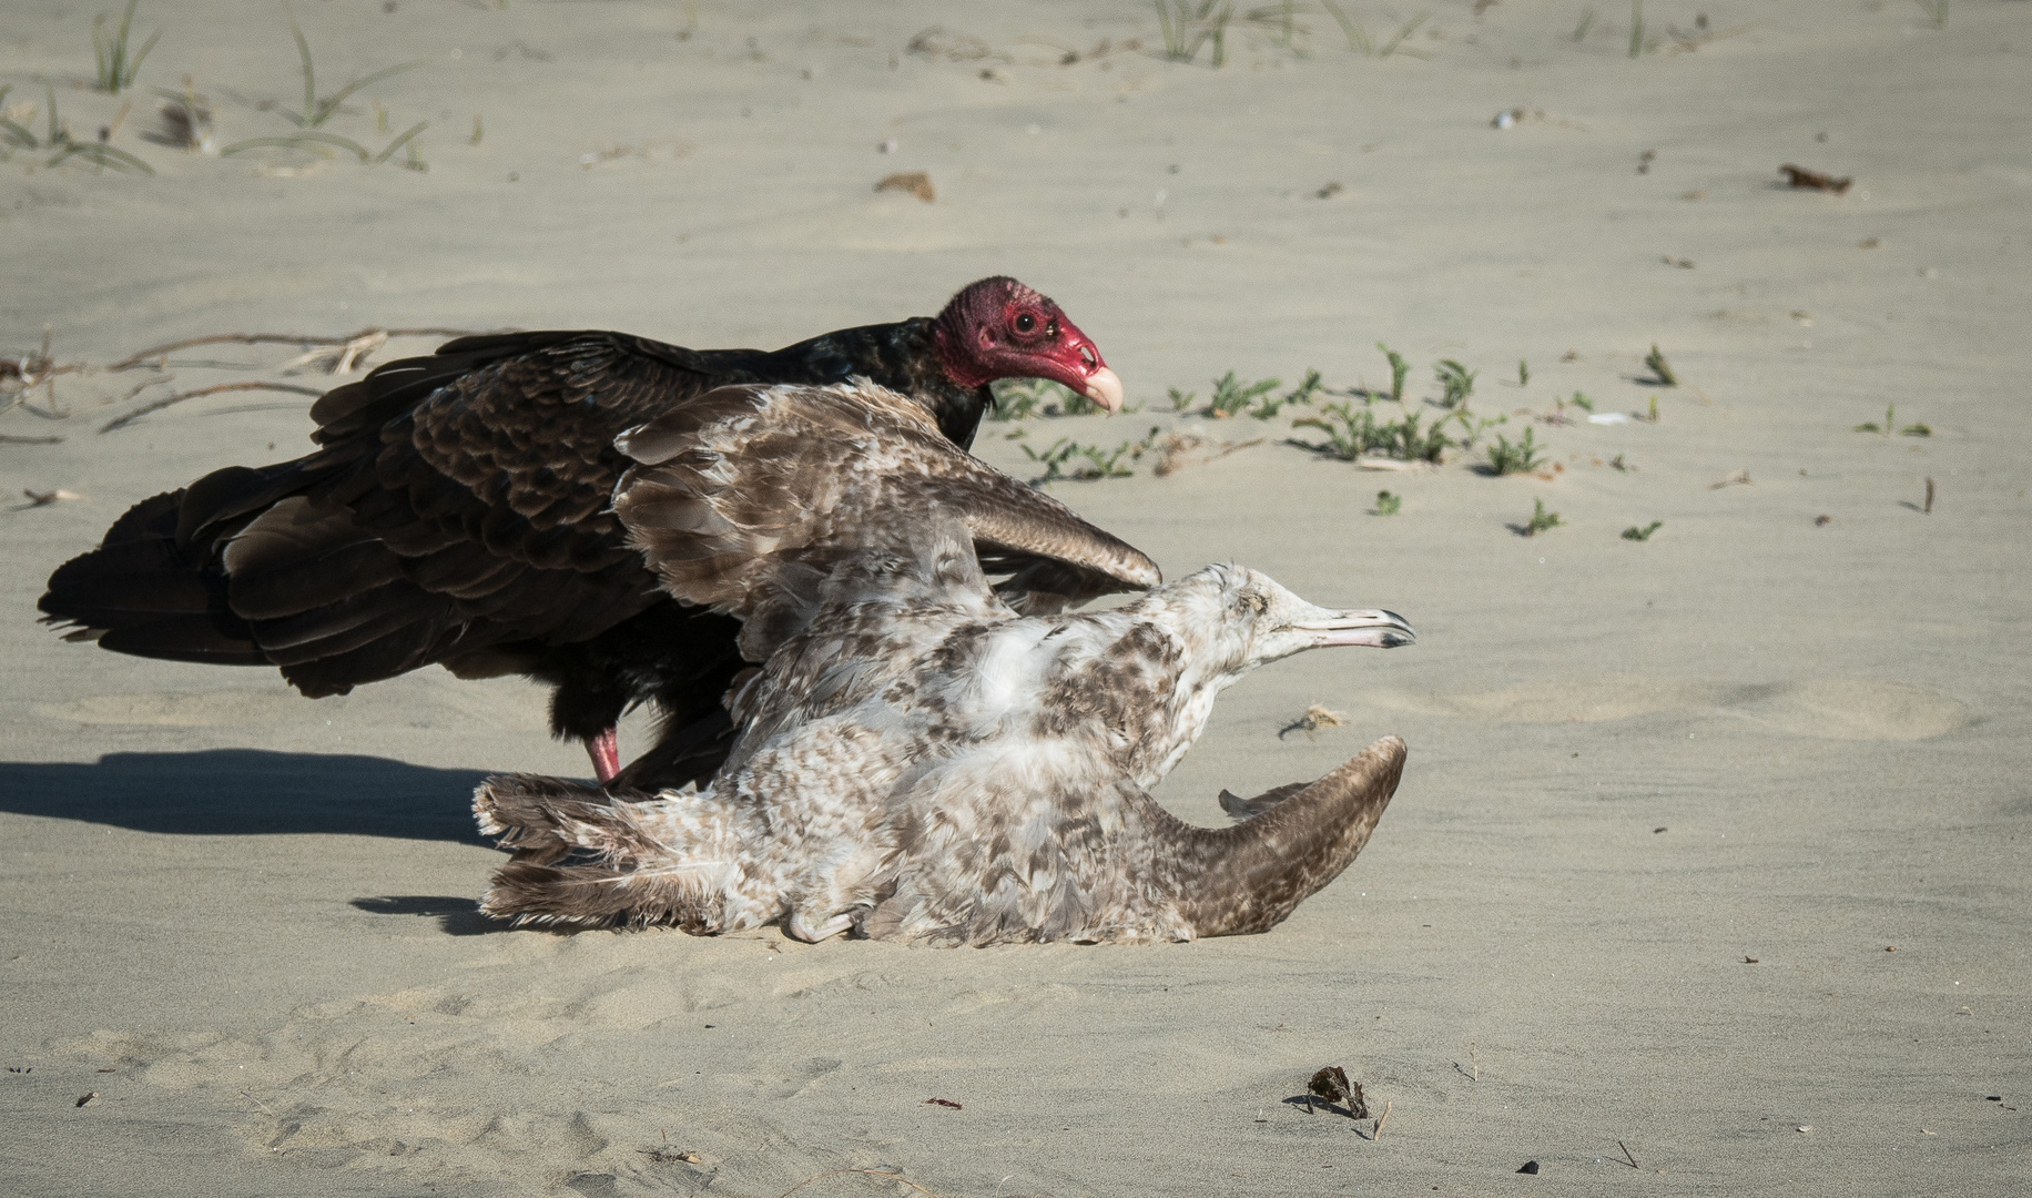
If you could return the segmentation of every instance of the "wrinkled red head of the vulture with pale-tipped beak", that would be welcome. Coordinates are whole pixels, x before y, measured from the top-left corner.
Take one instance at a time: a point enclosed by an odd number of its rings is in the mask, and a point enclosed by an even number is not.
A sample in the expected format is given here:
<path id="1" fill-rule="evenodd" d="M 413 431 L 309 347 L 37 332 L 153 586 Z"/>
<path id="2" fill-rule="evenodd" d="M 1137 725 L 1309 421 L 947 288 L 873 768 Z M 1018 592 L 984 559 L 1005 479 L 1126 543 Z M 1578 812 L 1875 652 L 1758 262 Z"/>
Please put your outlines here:
<path id="1" fill-rule="evenodd" d="M 1049 378 L 1109 412 L 1122 410 L 1122 380 L 1059 305 L 996 276 L 967 284 L 939 313 L 939 359 L 947 378 L 977 388 L 998 378 Z"/>

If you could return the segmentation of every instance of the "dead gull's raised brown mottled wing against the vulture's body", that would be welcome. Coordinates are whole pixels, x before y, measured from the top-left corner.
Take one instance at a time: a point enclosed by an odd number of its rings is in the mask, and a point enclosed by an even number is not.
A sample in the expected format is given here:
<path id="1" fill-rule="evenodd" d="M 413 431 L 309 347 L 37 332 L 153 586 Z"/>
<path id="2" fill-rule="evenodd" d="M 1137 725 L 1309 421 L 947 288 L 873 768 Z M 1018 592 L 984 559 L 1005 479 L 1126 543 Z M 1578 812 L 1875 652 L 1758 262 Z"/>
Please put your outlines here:
<path id="1" fill-rule="evenodd" d="M 1160 581 L 1156 564 L 1071 508 L 945 441 L 920 404 L 874 384 L 729 386 L 630 428 L 636 465 L 614 512 L 664 591 L 752 619 L 858 550 L 912 554 L 957 520 L 1018 611 L 1053 611 Z M 780 627 L 752 621 L 762 660 Z"/>

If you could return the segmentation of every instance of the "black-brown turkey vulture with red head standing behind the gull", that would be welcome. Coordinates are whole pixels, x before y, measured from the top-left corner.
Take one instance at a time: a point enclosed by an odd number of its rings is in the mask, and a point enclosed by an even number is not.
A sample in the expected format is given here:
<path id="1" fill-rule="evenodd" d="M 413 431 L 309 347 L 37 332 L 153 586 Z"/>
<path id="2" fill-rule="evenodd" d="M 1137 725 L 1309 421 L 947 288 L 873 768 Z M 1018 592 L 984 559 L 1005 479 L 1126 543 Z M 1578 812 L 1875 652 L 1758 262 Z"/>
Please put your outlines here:
<path id="1" fill-rule="evenodd" d="M 601 782 L 620 768 L 616 721 L 648 701 L 669 733 L 658 770 L 705 776 L 727 735 L 719 698 L 744 666 L 740 625 L 673 601 L 630 544 L 612 502 L 634 463 L 616 439 L 727 384 L 868 380 L 908 396 L 965 457 L 998 378 L 1122 404 L 1093 341 L 1014 278 L 973 282 L 937 317 L 776 351 L 597 331 L 461 337 L 319 398 L 315 453 L 136 504 L 51 575 L 39 607 L 124 654 L 280 666 L 313 698 L 433 662 L 526 674 L 555 688 L 551 729 L 585 741 Z"/>

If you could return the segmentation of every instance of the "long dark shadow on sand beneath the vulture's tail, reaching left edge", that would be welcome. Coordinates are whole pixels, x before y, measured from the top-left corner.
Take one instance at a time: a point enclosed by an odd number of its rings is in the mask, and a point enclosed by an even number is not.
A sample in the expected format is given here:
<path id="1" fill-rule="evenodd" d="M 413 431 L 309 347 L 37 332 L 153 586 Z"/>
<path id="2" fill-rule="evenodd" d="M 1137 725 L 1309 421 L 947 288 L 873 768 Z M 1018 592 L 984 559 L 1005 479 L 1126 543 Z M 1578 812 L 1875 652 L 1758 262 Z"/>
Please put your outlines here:
<path id="1" fill-rule="evenodd" d="M 0 761 L 0 810 L 189 837 L 343 833 L 486 845 L 471 808 L 482 778 L 356 755 L 108 753 L 89 766 Z"/>

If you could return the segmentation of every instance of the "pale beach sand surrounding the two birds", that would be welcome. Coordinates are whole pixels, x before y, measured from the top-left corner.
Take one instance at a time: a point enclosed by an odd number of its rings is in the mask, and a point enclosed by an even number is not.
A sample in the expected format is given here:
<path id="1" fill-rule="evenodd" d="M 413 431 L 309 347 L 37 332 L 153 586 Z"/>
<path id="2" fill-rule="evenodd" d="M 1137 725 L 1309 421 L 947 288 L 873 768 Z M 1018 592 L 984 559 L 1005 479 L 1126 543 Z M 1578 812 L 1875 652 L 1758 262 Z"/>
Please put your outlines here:
<path id="1" fill-rule="evenodd" d="M 146 89 L 185 73 L 219 142 L 289 132 L 256 104 L 301 102 L 280 6 L 144 2 L 136 41 L 163 41 L 112 144 L 158 175 L 0 164 L 6 347 L 45 323 L 59 361 L 100 365 L 362 325 L 776 345 L 1010 272 L 1148 404 L 1032 420 L 1028 445 L 1268 437 L 1055 493 L 1172 575 L 1231 556 L 1422 636 L 1258 672 L 1162 798 L 1213 822 L 1219 788 L 1313 778 L 1382 733 L 1410 768 L 1355 867 L 1264 936 L 508 932 L 471 910 L 500 855 L 467 792 L 585 770 L 536 688 L 433 670 L 309 703 L 33 621 L 49 571 L 128 504 L 301 453 L 307 400 L 96 426 L 280 380 L 295 349 L 183 353 L 134 400 L 146 372 L 65 376 L 67 418 L 0 414 L 63 437 L 0 445 L 0 491 L 81 495 L 0 516 L 0 1188 L 768 1198 L 849 1168 L 941 1198 L 2032 1186 L 2032 6 L 1963 0 L 1934 28 L 1916 4 L 1713 0 L 1727 37 L 1674 53 L 1666 26 L 1703 6 L 1654 0 L 1662 45 L 1634 61 L 1615 4 L 1575 43 L 1571 0 L 1447 0 L 1404 43 L 1428 59 L 1349 53 L 1300 6 L 1305 55 L 1235 24 L 1219 71 L 1152 55 L 1134 2 L 386 8 L 297 16 L 321 89 L 425 63 L 327 128 L 380 150 L 427 120 L 429 173 L 138 140 Z M 1378 43 L 1418 12 L 1347 8 Z M 43 130 L 43 75 L 79 138 L 114 118 L 73 85 L 91 14 L 6 6 L 0 106 L 35 110 L 14 120 Z M 959 57 L 906 49 L 933 24 Z M 1103 37 L 1144 49 L 1055 65 Z M 1494 128 L 1510 108 L 1526 120 Z M 1855 185 L 1782 189 L 1784 162 Z M 937 201 L 878 195 L 894 171 Z M 1581 390 L 1601 412 L 1656 398 L 1660 420 L 1538 424 L 1550 479 L 1382 475 L 1282 445 L 1284 420 L 1207 428 L 1164 400 L 1227 370 L 1374 386 L 1376 341 L 1412 359 L 1414 396 L 1455 357 L 1483 414 Z M 1682 386 L 1638 382 L 1654 341 Z M 1851 432 L 1886 404 L 1932 437 Z M 1008 428 L 979 451 L 1028 469 Z M 1711 487 L 1735 471 L 1752 483 Z M 1378 487 L 1400 516 L 1368 514 Z M 1567 524 L 1520 538 L 1534 500 Z M 1345 727 L 1278 739 L 1311 703 Z M 1390 1103 L 1380 1141 L 1288 1101 L 1323 1064 Z"/>

